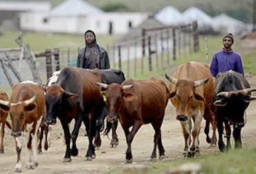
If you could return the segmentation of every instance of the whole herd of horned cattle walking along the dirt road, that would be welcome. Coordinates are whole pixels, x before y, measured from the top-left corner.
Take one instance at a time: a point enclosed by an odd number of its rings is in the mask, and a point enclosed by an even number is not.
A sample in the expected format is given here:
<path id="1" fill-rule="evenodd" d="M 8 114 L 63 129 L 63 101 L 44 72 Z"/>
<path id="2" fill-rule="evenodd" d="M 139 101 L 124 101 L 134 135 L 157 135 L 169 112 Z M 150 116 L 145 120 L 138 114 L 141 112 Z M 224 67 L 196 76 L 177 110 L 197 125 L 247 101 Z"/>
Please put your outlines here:
<path id="1" fill-rule="evenodd" d="M 250 88 L 244 75 L 230 70 L 220 72 L 215 79 L 207 64 L 191 61 L 178 66 L 172 76 L 165 74 L 165 78 L 170 81 L 169 88 L 164 81 L 155 77 L 125 79 L 120 70 L 89 70 L 67 66 L 55 72 L 46 85 L 33 81 L 21 82 L 12 89 L 10 99 L 5 92 L 0 93 L 0 153 L 4 153 L 4 127 L 7 125 L 12 137 L 15 137 L 15 171 L 21 172 L 21 135 L 26 137 L 26 168 L 33 169 L 39 164 L 37 154 L 42 153 L 43 135 L 46 135 L 44 149 L 47 150 L 49 126 L 56 124 L 58 118 L 66 143 L 64 162 L 71 162 L 71 156 L 78 154 L 76 140 L 82 123 L 89 139 L 85 158 L 92 160 L 96 156 L 95 148 L 101 145 L 100 131 L 104 129 L 106 118 L 105 134 L 112 129 L 112 147 L 118 146 L 118 120 L 122 126 L 127 141 L 127 163 L 133 160 L 131 142 L 143 124 L 152 124 L 155 131 L 150 158 L 156 159 L 158 147 L 158 158 L 163 159 L 165 148 L 161 125 L 169 100 L 176 108 L 176 119 L 181 123 L 184 157 L 200 153 L 202 119 L 205 119 L 206 141 L 211 146 L 217 145 L 217 129 L 219 150 L 228 151 L 232 128 L 235 148 L 241 148 L 244 113 L 250 101 L 256 99 L 250 95 L 256 88 Z M 11 124 L 7 120 L 8 113 Z M 73 119 L 75 125 L 71 133 L 69 124 Z M 209 137 L 210 124 L 212 137 Z M 223 126 L 227 133 L 226 145 L 222 139 Z"/>

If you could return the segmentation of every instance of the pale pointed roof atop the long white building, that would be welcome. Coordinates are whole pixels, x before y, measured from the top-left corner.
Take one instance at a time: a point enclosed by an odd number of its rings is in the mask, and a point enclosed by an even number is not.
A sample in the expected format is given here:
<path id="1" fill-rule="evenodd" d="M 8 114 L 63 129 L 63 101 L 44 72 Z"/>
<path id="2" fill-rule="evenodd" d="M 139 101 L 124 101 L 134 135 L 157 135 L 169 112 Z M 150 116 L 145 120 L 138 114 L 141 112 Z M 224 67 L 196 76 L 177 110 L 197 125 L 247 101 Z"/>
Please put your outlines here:
<path id="1" fill-rule="evenodd" d="M 104 11 L 83 0 L 67 0 L 51 10 L 53 16 L 79 16 L 103 13 Z"/>

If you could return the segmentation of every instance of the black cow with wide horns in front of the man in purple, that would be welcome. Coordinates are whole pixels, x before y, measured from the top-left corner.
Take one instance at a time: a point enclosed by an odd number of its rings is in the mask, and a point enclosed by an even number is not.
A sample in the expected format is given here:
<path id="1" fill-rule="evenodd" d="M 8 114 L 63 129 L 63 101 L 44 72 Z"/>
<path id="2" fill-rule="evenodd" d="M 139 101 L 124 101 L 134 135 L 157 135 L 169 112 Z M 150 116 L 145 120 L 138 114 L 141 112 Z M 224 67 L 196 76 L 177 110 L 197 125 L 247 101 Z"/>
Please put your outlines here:
<path id="1" fill-rule="evenodd" d="M 220 72 L 214 83 L 214 105 L 217 107 L 217 128 L 219 133 L 219 150 L 228 151 L 230 144 L 230 125 L 233 125 L 235 148 L 241 148 L 241 128 L 244 127 L 244 112 L 250 101 L 256 99 L 250 95 L 256 88 L 238 72 L 229 70 Z M 227 145 L 223 143 L 223 122 L 226 127 Z"/>

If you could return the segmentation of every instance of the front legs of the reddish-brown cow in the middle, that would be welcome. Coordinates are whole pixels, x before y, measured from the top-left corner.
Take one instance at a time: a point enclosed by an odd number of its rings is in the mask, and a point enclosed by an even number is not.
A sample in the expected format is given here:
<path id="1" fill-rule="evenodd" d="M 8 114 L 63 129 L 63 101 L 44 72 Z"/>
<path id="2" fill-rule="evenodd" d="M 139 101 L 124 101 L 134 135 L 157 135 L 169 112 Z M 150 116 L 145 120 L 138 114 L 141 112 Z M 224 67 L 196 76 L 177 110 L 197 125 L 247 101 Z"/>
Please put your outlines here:
<path id="1" fill-rule="evenodd" d="M 131 163 L 132 162 L 132 153 L 131 153 L 131 142 L 134 139 L 134 135 L 138 132 L 138 129 L 142 126 L 142 124 L 139 121 L 134 122 L 134 126 L 131 129 L 131 132 L 129 132 L 129 128 L 125 128 L 125 137 L 127 141 L 127 151 L 126 151 L 126 162 Z M 128 130 L 128 131 L 127 131 Z"/>

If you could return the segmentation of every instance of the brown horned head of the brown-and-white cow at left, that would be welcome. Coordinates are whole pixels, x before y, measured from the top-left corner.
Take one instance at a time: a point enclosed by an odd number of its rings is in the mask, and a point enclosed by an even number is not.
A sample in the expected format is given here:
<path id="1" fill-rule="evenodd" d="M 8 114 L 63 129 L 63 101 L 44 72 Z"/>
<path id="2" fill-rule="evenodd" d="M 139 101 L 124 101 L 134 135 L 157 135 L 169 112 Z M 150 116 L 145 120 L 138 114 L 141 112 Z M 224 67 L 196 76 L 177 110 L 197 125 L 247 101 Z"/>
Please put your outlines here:
<path id="1" fill-rule="evenodd" d="M 29 117 L 30 112 L 33 112 L 33 110 L 37 108 L 37 104 L 34 102 L 36 97 L 37 94 L 30 99 L 19 101 L 17 103 L 10 103 L 10 101 L 0 100 L 1 109 L 5 110 L 6 112 L 10 112 L 10 118 L 12 119 L 11 135 L 13 137 L 19 137 L 21 135 L 21 131 L 25 130 L 25 120 L 30 120 L 30 118 L 26 117 Z"/>

